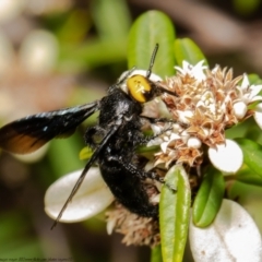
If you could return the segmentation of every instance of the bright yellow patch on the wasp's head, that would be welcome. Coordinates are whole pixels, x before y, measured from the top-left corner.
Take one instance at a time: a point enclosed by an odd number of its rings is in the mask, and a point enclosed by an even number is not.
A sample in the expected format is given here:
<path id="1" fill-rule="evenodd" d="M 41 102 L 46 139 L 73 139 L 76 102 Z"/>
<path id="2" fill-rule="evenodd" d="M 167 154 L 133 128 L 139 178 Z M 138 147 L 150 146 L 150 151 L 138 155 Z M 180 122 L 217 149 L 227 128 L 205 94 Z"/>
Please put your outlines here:
<path id="1" fill-rule="evenodd" d="M 127 80 L 129 94 L 139 103 L 145 103 L 146 95 L 152 91 L 151 83 L 143 75 L 133 75 Z"/>

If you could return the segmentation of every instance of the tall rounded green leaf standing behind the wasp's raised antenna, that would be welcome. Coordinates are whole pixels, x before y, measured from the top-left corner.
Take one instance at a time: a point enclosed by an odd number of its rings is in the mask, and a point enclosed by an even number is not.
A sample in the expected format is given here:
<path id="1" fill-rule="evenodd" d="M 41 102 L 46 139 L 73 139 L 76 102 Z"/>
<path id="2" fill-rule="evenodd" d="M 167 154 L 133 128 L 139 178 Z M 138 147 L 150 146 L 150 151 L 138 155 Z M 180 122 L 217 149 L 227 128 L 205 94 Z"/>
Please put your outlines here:
<path id="1" fill-rule="evenodd" d="M 148 11 L 134 22 L 129 35 L 128 64 L 138 69 L 148 69 L 152 52 L 156 44 L 159 49 L 153 72 L 167 76 L 175 70 L 174 58 L 175 28 L 170 19 L 159 11 Z"/>

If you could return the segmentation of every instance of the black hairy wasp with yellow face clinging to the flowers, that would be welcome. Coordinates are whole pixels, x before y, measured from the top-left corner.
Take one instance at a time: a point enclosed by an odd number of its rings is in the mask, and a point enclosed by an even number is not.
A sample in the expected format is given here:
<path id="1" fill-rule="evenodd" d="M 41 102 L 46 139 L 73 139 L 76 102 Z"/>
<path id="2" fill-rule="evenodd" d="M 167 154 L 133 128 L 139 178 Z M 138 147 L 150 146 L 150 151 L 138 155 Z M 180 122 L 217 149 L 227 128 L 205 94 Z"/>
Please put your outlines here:
<path id="1" fill-rule="evenodd" d="M 28 116 L 0 129 L 0 147 L 16 154 L 26 154 L 38 150 L 51 139 L 72 134 L 81 122 L 95 111 L 100 111 L 98 123 L 88 128 L 84 135 L 86 144 L 94 148 L 94 153 L 55 225 L 95 162 L 98 163 L 102 176 L 112 194 L 123 206 L 141 216 L 157 217 L 158 206 L 150 203 L 143 181 L 151 178 L 163 182 L 163 179 L 155 171 L 144 171 L 134 160 L 135 147 L 150 141 L 141 131 L 143 120 L 165 121 L 140 116 L 143 103 L 167 92 L 150 79 L 157 48 L 158 45 L 145 76 L 135 74 L 134 69 L 126 72 L 100 100 Z M 123 86 L 127 91 L 123 91 Z M 97 138 L 100 140 L 97 141 Z"/>

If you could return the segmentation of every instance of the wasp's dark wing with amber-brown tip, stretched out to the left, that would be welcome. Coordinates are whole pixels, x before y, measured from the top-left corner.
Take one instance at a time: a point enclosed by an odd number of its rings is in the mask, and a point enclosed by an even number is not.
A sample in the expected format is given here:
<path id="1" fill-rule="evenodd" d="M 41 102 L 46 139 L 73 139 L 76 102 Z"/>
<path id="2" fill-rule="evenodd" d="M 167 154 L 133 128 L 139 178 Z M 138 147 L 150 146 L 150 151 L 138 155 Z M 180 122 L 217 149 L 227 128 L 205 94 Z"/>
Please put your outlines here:
<path id="1" fill-rule="evenodd" d="M 0 147 L 16 154 L 32 153 L 56 136 L 71 135 L 98 109 L 99 100 L 13 121 L 0 129 Z"/>

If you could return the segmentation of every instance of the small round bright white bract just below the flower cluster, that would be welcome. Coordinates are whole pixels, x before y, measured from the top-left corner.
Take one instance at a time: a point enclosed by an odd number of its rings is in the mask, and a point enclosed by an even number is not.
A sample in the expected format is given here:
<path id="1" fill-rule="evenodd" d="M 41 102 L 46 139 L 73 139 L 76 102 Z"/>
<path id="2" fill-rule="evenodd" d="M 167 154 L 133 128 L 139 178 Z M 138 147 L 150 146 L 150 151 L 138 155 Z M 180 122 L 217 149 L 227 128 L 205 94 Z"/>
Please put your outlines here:
<path id="1" fill-rule="evenodd" d="M 235 174 L 242 166 L 243 154 L 240 146 L 233 140 L 226 140 L 225 144 L 216 148 L 209 148 L 209 156 L 217 169 L 225 174 Z"/>

